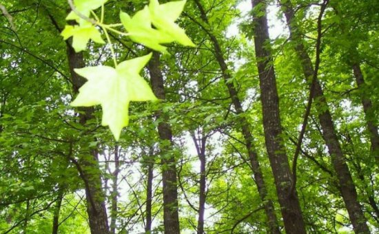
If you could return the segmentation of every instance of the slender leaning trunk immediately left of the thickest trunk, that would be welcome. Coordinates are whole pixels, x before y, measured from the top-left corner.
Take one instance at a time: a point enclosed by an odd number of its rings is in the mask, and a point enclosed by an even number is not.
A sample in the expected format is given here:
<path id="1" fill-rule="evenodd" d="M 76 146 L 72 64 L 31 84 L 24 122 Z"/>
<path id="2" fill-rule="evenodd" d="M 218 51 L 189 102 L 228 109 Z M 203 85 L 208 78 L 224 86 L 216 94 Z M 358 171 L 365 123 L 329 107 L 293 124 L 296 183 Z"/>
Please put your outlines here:
<path id="1" fill-rule="evenodd" d="M 201 3 L 198 0 L 194 0 L 194 1 L 196 3 L 196 6 L 198 6 L 198 10 L 201 12 L 201 19 L 205 23 L 209 23 L 207 19 L 207 14 L 205 13 L 205 10 L 203 9 L 203 6 L 201 5 Z M 218 43 L 216 36 L 214 36 L 206 28 L 203 28 L 203 30 L 207 32 L 209 39 L 211 40 L 213 44 L 214 56 L 216 57 L 216 60 L 218 61 L 218 65 L 220 65 L 221 67 L 223 79 L 225 81 L 225 84 L 227 85 L 230 98 L 232 98 L 232 103 L 234 105 L 234 108 L 236 109 L 236 114 L 238 115 L 238 123 L 240 123 L 240 127 L 243 133 L 243 138 L 245 140 L 247 154 L 249 156 L 249 161 L 252 166 L 252 171 L 254 174 L 256 187 L 258 189 L 260 199 L 262 200 L 263 204 L 265 204 L 265 213 L 267 215 L 268 232 L 280 233 L 278 221 L 275 214 L 274 204 L 272 200 L 267 198 L 267 187 L 265 184 L 265 180 L 263 178 L 262 170 L 260 169 L 258 154 L 256 153 L 256 150 L 254 149 L 254 144 L 253 144 L 254 138 L 252 135 L 252 131 L 250 130 L 250 126 L 249 126 L 249 123 L 247 122 L 247 119 L 243 116 L 245 111 L 243 110 L 241 101 L 238 98 L 238 92 L 236 90 L 236 87 L 234 87 L 233 83 L 229 82 L 229 79 L 232 78 L 232 76 L 230 75 L 227 64 L 225 63 L 221 46 Z"/>

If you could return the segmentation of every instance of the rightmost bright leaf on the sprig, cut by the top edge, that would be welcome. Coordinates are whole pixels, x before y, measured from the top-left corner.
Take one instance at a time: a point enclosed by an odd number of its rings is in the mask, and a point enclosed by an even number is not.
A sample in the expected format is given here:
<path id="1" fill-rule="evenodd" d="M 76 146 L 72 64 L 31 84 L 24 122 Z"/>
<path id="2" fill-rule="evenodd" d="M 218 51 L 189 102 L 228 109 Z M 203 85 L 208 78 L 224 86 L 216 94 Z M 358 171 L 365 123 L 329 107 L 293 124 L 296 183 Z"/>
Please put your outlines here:
<path id="1" fill-rule="evenodd" d="M 150 0 L 149 10 L 152 17 L 152 24 L 161 32 L 170 35 L 174 41 L 182 45 L 195 46 L 194 43 L 185 34 L 183 28 L 180 28 L 174 21 L 178 19 L 183 11 L 185 1 L 171 1 L 165 4 L 159 4 L 158 0 Z"/>

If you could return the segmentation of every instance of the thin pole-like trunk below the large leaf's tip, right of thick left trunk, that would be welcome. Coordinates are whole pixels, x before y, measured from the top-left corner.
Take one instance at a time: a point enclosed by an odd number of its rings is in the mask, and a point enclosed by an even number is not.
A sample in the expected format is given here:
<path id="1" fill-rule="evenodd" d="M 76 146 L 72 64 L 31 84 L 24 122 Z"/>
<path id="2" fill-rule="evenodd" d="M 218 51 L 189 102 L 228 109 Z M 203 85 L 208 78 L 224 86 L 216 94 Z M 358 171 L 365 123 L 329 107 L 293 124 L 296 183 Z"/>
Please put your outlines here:
<path id="1" fill-rule="evenodd" d="M 119 192 L 117 191 L 118 182 L 119 182 L 119 171 L 120 171 L 120 162 L 119 162 L 119 145 L 114 146 L 114 172 L 112 178 L 112 209 L 110 213 L 110 233 L 116 233 L 116 220 L 117 220 L 117 196 Z"/>

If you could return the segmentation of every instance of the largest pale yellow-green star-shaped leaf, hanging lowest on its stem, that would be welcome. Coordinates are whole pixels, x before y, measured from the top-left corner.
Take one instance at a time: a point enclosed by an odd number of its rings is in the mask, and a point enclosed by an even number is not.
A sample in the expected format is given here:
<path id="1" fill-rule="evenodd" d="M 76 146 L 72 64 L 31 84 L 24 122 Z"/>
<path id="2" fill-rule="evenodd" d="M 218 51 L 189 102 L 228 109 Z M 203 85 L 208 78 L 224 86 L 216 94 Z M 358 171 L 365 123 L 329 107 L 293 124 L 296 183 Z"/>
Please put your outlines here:
<path id="1" fill-rule="evenodd" d="M 79 95 L 70 104 L 74 107 L 101 105 L 101 125 L 110 127 L 116 140 L 129 123 L 130 101 L 158 100 L 147 82 L 139 75 L 152 53 L 123 61 L 116 68 L 108 66 L 84 67 L 75 72 L 88 79 Z"/>

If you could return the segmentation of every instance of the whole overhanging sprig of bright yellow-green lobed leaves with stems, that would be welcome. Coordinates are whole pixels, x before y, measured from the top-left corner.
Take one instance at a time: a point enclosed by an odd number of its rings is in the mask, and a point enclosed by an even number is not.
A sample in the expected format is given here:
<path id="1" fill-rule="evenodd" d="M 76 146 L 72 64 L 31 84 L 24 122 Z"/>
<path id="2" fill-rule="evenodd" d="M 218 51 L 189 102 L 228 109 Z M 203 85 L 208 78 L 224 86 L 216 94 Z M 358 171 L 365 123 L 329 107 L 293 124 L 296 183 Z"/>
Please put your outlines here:
<path id="1" fill-rule="evenodd" d="M 140 70 L 150 60 L 151 54 L 124 61 L 117 65 L 116 55 L 107 31 L 130 36 L 132 41 L 163 53 L 167 53 L 167 51 L 166 47 L 160 45 L 161 43 L 177 41 L 183 45 L 195 45 L 184 30 L 174 23 L 183 11 L 185 0 L 161 5 L 158 0 L 150 1 L 149 8 L 145 6 L 143 10 L 136 12 L 133 18 L 129 14 L 121 12 L 120 19 L 128 32 L 127 34 L 114 30 L 113 25 L 103 24 L 105 1 L 74 1 L 76 8 L 68 14 L 66 19 L 74 19 L 79 22 L 79 25 L 66 25 L 61 35 L 64 40 L 72 36 L 72 47 L 76 52 L 80 52 L 85 50 L 90 39 L 96 43 L 104 43 L 103 39 L 101 39 L 101 34 L 94 25 L 99 25 L 103 29 L 107 37 L 107 43 L 111 47 L 116 68 L 99 66 L 75 70 L 77 74 L 87 78 L 89 82 L 79 90 L 80 94 L 74 100 L 72 106 L 90 107 L 101 104 L 104 112 L 101 123 L 103 126 L 109 125 L 114 138 L 119 140 L 121 129 L 129 123 L 128 109 L 130 101 L 156 100 L 156 97 L 146 81 L 139 76 Z M 95 22 L 84 18 L 90 17 L 92 10 L 99 7 L 101 7 L 100 20 L 96 14 L 94 14 Z M 82 15 L 76 14 L 76 11 Z M 167 12 L 170 12 L 170 14 L 167 14 Z M 158 30 L 152 28 L 152 25 Z"/>

